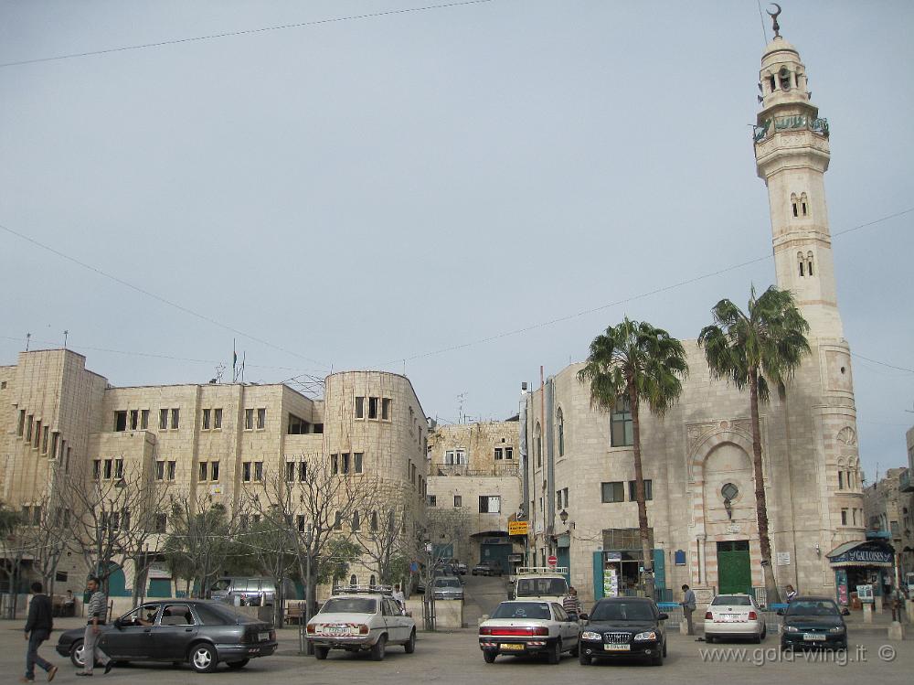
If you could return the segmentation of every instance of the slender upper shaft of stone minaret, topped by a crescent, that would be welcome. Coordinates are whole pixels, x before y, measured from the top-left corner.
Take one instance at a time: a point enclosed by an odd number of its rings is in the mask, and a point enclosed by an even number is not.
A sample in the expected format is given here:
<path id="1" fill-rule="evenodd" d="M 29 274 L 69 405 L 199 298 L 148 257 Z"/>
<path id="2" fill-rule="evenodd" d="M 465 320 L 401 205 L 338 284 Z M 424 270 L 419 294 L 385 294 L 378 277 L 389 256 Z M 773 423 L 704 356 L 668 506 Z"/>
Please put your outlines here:
<path id="1" fill-rule="evenodd" d="M 834 288 L 824 173 L 828 122 L 811 102 L 797 49 L 775 35 L 761 58 L 755 158 L 768 186 L 778 287 L 791 290 L 814 337 L 844 337 Z"/>

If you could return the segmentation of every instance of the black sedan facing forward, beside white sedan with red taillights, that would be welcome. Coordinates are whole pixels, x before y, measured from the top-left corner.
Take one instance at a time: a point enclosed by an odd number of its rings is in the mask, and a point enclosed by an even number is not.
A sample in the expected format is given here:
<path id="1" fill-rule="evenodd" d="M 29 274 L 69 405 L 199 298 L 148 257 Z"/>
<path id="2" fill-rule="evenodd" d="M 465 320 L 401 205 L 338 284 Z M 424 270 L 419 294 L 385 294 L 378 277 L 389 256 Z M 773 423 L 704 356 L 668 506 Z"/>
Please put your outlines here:
<path id="1" fill-rule="evenodd" d="M 664 621 L 668 617 L 646 597 L 601 599 L 581 628 L 580 663 L 587 666 L 595 658 L 640 657 L 661 666 L 666 656 Z"/>

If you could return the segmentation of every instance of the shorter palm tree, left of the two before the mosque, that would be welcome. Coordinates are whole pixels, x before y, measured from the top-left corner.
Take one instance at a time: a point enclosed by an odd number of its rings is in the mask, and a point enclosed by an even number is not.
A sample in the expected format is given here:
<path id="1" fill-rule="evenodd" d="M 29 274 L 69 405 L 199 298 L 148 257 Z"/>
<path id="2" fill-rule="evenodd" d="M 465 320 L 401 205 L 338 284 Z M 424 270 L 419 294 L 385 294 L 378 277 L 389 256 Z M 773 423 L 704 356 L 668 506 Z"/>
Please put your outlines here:
<path id="1" fill-rule="evenodd" d="M 648 578 L 654 570 L 654 558 L 647 528 L 640 403 L 645 402 L 654 415 L 663 416 L 679 399 L 682 381 L 687 376 L 688 363 L 682 343 L 662 328 L 632 321 L 627 316 L 621 324 L 609 326 L 605 333 L 593 339 L 587 362 L 578 372 L 580 382 L 590 381 L 590 406 L 594 409 L 611 412 L 626 399 L 631 406 L 635 499 Z M 653 587 L 648 590 L 653 594 Z"/>

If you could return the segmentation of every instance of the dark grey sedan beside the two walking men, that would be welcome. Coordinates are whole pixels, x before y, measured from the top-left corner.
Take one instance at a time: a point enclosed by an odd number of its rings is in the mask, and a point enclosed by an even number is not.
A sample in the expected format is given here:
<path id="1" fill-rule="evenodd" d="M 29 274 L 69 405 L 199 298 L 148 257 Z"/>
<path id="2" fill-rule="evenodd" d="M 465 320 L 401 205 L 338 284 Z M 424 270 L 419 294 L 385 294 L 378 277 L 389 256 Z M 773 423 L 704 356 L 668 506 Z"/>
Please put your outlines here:
<path id="1" fill-rule="evenodd" d="M 84 628 L 66 630 L 57 651 L 83 667 Z M 146 602 L 101 626 L 99 645 L 114 661 L 188 662 L 199 673 L 220 662 L 241 669 L 251 658 L 276 651 L 276 632 L 268 623 L 239 615 L 231 607 L 207 600 Z"/>

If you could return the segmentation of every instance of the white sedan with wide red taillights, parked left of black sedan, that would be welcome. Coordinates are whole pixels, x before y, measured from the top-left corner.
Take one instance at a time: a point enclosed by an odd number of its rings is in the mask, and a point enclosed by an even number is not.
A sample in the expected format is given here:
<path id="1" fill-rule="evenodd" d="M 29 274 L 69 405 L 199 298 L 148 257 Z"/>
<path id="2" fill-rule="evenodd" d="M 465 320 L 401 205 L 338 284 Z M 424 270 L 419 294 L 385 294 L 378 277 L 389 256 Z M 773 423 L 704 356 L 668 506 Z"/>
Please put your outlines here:
<path id="1" fill-rule="evenodd" d="M 545 654 L 558 664 L 563 652 L 578 654 L 579 625 L 555 602 L 502 602 L 479 626 L 479 648 L 485 663 L 499 654 Z"/>

